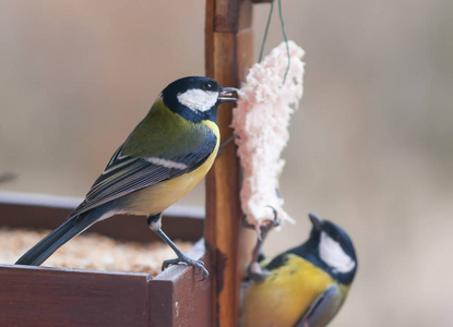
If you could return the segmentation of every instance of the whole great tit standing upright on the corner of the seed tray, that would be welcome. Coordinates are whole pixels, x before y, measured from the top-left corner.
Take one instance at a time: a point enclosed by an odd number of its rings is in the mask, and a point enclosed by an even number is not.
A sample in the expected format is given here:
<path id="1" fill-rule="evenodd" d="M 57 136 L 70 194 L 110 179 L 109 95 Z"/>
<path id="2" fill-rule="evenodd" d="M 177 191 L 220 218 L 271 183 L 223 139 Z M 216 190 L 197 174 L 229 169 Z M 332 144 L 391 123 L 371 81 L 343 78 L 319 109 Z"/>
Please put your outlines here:
<path id="1" fill-rule="evenodd" d="M 177 254 L 163 263 L 198 267 L 163 232 L 162 211 L 187 194 L 213 165 L 218 146 L 217 105 L 236 101 L 237 89 L 200 76 L 177 80 L 117 149 L 68 220 L 28 250 L 17 265 L 40 265 L 93 223 L 118 214 L 147 216 L 147 225 Z M 127 223 L 127 222 L 126 222 Z"/>

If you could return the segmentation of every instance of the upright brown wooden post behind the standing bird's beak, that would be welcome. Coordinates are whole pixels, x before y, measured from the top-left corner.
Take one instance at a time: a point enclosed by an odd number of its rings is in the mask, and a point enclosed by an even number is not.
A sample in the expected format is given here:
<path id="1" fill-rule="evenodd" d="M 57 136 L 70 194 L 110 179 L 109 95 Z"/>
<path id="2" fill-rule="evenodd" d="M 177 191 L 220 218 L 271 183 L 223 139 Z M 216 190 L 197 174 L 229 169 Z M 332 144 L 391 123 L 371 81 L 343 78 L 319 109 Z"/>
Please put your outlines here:
<path id="1" fill-rule="evenodd" d="M 253 62 L 252 2 L 250 0 L 206 0 L 206 75 L 222 86 L 239 86 Z M 229 106 L 229 108 L 227 108 Z M 222 140 L 231 135 L 231 108 L 222 105 L 218 126 Z M 234 142 L 206 177 L 206 220 L 204 238 L 213 263 L 213 325 L 238 326 L 239 288 L 250 243 L 243 241 L 239 204 L 240 169 Z M 250 238 L 250 234 L 248 237 Z"/>

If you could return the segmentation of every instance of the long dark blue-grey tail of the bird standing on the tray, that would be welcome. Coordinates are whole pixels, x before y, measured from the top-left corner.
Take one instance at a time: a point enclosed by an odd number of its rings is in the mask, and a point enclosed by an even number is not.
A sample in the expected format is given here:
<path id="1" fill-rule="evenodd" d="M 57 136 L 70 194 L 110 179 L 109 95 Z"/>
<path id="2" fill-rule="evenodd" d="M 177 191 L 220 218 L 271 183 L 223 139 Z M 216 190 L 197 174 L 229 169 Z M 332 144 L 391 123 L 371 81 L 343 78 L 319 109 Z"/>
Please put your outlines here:
<path id="1" fill-rule="evenodd" d="M 96 221 L 95 218 L 96 215 L 91 215 L 90 211 L 69 218 L 61 226 L 40 240 L 39 243 L 28 250 L 17 259 L 15 264 L 39 266 L 61 245 L 75 238 L 93 225 Z"/>

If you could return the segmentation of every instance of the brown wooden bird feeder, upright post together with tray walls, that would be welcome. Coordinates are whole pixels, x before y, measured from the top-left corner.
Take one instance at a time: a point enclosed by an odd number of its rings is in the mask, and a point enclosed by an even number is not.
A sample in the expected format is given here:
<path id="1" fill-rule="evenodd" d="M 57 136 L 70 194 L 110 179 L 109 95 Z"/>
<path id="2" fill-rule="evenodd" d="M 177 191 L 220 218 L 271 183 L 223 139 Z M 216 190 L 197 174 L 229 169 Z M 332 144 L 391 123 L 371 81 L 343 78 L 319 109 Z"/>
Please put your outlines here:
<path id="1" fill-rule="evenodd" d="M 238 86 L 253 62 L 251 19 L 250 0 L 206 0 L 206 76 L 220 85 Z M 218 111 L 223 140 L 231 134 L 230 121 L 231 110 Z M 1 203 L 0 225 L 53 229 L 70 211 L 39 203 Z M 204 233 L 202 219 L 167 217 L 164 223 L 171 239 L 198 241 L 204 235 L 189 255 L 205 263 L 211 274 L 206 280 L 196 281 L 192 267 L 184 266 L 169 267 L 152 278 L 0 265 L 0 326 L 238 326 L 240 279 L 253 233 L 241 227 L 234 143 L 222 149 L 206 178 Z M 96 223 L 90 231 L 121 240 L 157 239 L 142 219 L 123 216 Z"/>

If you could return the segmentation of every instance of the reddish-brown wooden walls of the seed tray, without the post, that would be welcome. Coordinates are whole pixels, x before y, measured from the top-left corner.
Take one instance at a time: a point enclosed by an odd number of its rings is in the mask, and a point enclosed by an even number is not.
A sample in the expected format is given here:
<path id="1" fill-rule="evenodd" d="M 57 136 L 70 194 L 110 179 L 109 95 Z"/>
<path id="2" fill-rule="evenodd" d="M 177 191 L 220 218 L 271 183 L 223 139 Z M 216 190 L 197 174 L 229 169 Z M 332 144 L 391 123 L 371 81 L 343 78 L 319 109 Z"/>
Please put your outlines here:
<path id="1" fill-rule="evenodd" d="M 0 203 L 0 226 L 53 229 L 71 210 Z M 204 241 L 200 240 L 202 219 L 167 216 L 163 222 L 171 239 L 199 240 L 189 255 L 210 266 Z M 158 240 L 139 217 L 112 217 L 90 231 L 121 241 Z M 188 266 L 171 266 L 152 277 L 143 272 L 0 265 L 0 326 L 210 326 L 211 277 L 199 282 L 201 276 L 193 272 Z"/>

